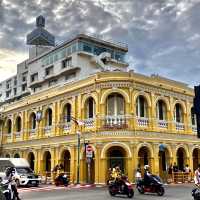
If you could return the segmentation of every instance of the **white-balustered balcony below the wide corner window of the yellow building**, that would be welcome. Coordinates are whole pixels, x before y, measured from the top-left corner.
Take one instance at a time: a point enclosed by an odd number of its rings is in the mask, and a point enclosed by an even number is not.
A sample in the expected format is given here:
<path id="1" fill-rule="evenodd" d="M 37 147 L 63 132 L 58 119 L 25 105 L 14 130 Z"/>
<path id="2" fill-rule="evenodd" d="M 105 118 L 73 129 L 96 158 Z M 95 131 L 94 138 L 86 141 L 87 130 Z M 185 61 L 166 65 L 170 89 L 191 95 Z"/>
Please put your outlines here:
<path id="1" fill-rule="evenodd" d="M 105 116 L 102 119 L 102 125 L 104 129 L 126 129 L 128 128 L 127 116 Z"/>

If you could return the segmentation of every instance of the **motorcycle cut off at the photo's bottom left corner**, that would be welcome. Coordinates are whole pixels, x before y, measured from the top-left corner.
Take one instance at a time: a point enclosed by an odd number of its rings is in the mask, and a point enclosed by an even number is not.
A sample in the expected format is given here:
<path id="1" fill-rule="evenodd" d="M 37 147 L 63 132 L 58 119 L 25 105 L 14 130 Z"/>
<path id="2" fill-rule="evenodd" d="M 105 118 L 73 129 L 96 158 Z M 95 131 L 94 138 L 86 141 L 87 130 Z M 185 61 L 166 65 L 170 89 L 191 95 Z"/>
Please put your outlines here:
<path id="1" fill-rule="evenodd" d="M 0 183 L 0 197 L 1 196 L 3 200 L 15 200 L 15 193 L 9 181 L 2 181 Z"/>

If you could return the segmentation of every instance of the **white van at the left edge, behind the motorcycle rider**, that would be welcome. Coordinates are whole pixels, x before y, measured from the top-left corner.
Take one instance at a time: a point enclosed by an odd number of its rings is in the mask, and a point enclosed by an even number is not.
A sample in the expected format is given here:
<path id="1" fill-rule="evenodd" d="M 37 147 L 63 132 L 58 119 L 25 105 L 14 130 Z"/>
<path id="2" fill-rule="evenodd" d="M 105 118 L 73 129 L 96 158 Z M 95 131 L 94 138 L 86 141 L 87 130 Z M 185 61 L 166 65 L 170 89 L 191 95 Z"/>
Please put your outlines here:
<path id="1" fill-rule="evenodd" d="M 3 180 L 6 176 L 7 167 L 15 168 L 15 180 L 18 186 L 33 185 L 38 186 L 40 179 L 29 166 L 29 163 L 24 158 L 0 158 L 0 179 Z"/>

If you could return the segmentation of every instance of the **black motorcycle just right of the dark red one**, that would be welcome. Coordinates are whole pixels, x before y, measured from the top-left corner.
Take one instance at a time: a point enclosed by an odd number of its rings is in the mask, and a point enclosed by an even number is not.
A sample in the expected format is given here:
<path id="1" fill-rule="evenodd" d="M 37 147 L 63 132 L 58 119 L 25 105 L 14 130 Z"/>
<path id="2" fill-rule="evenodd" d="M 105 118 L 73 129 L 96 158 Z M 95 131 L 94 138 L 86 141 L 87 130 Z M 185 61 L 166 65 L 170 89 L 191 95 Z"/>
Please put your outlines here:
<path id="1" fill-rule="evenodd" d="M 144 179 L 139 180 L 137 182 L 137 189 L 140 194 L 144 194 L 145 192 L 157 193 L 158 196 L 163 196 L 165 193 L 165 189 L 163 184 L 158 176 L 151 175 L 151 182 L 146 184 Z"/>

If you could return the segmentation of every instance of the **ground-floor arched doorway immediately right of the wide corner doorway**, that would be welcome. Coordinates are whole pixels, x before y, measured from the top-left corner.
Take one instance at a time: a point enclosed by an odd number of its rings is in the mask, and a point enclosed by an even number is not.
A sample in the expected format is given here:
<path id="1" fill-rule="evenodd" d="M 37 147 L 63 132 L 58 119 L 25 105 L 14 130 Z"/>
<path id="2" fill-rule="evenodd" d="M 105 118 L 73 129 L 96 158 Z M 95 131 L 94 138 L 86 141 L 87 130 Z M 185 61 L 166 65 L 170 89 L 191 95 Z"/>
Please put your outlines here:
<path id="1" fill-rule="evenodd" d="M 142 170 L 142 174 L 144 173 L 145 165 L 149 165 L 151 167 L 150 150 L 146 146 L 141 147 L 140 150 L 138 151 L 138 165 Z"/>

